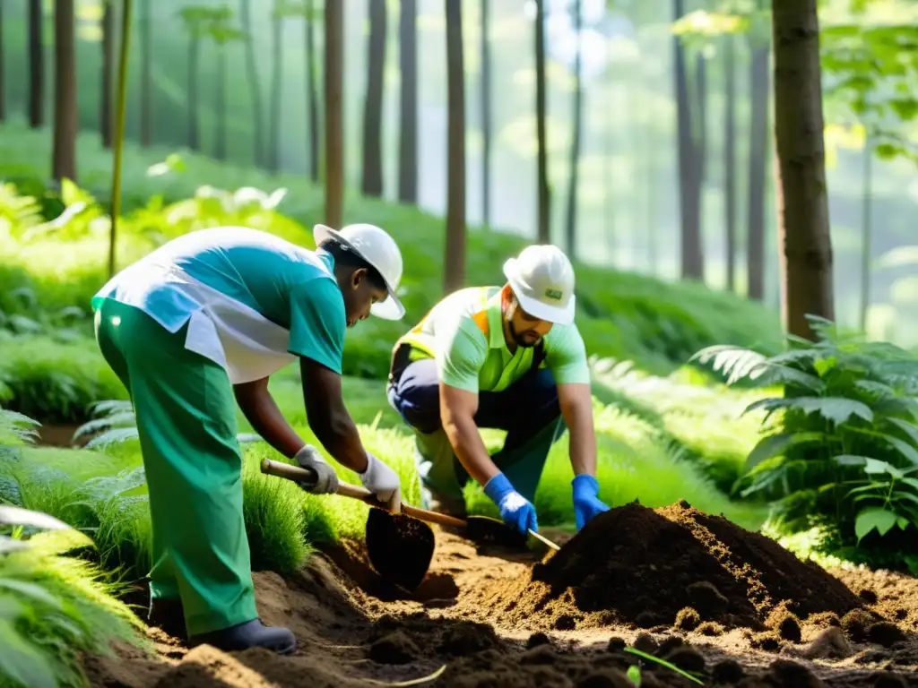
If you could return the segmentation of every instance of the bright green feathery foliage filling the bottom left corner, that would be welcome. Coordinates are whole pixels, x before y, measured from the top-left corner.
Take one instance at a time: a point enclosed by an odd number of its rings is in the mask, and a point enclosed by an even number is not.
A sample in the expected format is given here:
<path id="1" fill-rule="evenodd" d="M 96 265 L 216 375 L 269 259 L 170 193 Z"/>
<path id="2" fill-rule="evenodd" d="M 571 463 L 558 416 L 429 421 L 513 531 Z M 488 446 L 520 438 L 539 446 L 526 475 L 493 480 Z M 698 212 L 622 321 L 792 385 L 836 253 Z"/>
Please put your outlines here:
<path id="1" fill-rule="evenodd" d="M 66 556 L 92 545 L 47 514 L 0 505 L 0 683 L 84 686 L 82 652 L 113 657 L 114 641 L 151 650 L 138 618 L 113 596 L 118 586 Z"/>

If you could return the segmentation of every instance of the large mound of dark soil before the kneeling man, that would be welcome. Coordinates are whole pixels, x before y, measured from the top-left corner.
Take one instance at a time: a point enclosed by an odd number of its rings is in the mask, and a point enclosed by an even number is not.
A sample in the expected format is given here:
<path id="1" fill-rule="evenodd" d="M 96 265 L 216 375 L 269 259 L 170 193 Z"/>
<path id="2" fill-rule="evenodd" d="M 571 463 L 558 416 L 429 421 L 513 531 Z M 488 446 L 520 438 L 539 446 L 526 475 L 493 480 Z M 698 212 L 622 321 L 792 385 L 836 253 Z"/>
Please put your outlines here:
<path id="1" fill-rule="evenodd" d="M 565 629 L 627 623 L 638 627 L 769 626 L 799 640 L 788 614 L 837 616 L 863 600 L 772 539 L 709 516 L 686 502 L 662 509 L 631 504 L 595 518 L 554 558 L 498 581 L 470 608 L 502 621 Z M 687 610 L 687 611 L 683 611 Z M 680 614 L 681 612 L 681 614 Z"/>

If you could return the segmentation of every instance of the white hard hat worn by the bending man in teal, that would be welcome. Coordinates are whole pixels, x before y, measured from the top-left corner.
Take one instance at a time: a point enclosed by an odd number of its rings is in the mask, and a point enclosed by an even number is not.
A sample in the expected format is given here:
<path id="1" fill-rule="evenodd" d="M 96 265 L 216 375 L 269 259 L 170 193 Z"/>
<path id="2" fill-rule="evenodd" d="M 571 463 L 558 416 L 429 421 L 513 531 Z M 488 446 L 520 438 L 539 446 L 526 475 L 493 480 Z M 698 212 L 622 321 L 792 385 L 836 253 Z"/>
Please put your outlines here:
<path id="1" fill-rule="evenodd" d="M 312 236 L 316 239 L 316 246 L 329 239 L 340 241 L 382 275 L 389 297 L 372 305 L 370 313 L 384 320 L 400 320 L 405 315 L 405 306 L 396 295 L 402 273 L 401 251 L 386 231 L 364 223 L 341 227 L 340 232 L 325 225 L 316 225 Z"/>

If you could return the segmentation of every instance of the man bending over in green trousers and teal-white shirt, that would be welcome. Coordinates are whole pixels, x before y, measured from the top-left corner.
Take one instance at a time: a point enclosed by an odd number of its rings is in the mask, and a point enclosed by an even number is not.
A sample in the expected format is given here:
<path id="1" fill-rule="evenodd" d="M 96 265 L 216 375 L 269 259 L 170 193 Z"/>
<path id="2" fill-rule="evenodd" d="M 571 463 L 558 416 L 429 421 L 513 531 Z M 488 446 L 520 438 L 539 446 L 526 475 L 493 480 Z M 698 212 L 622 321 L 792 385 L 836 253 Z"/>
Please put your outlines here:
<path id="1" fill-rule="evenodd" d="M 174 239 L 119 272 L 92 300 L 95 336 L 128 388 L 150 493 L 150 623 L 192 646 L 281 654 L 297 640 L 265 627 L 242 519 L 236 403 L 274 449 L 338 477 L 282 416 L 268 376 L 299 359 L 309 427 L 364 486 L 397 510 L 398 477 L 364 449 L 341 398 L 346 327 L 398 319 L 402 258 L 372 225 L 319 225 L 318 250 L 246 227 Z M 235 402 L 235 403 L 234 403 Z"/>

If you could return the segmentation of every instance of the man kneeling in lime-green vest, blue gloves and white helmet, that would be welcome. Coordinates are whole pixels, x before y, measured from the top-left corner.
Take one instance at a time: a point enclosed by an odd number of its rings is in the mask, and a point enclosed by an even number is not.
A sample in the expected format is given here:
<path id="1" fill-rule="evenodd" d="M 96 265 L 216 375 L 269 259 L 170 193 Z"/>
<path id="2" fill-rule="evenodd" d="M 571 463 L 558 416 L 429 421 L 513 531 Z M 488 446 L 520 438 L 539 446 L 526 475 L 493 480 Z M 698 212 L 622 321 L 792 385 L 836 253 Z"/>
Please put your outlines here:
<path id="1" fill-rule="evenodd" d="M 554 441 L 570 430 L 577 529 L 599 501 L 589 369 L 574 324 L 574 269 L 554 246 L 504 264 L 503 287 L 446 296 L 393 351 L 389 403 L 414 430 L 429 508 L 465 517 L 469 476 L 500 516 L 537 530 L 535 490 Z M 493 457 L 479 427 L 507 431 Z"/>

